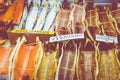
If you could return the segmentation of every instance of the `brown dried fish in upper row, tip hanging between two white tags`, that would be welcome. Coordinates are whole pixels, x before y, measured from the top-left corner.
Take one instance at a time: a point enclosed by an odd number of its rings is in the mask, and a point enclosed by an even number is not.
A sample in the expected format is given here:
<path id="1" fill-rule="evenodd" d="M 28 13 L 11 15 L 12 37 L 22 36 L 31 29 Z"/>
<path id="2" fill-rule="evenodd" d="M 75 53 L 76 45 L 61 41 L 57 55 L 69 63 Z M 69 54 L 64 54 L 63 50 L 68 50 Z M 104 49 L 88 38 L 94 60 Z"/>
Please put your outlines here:
<path id="1" fill-rule="evenodd" d="M 101 29 L 99 27 L 99 17 L 96 9 L 91 9 L 86 13 L 87 21 L 87 34 L 92 41 L 95 41 L 96 35 L 101 34 Z"/>

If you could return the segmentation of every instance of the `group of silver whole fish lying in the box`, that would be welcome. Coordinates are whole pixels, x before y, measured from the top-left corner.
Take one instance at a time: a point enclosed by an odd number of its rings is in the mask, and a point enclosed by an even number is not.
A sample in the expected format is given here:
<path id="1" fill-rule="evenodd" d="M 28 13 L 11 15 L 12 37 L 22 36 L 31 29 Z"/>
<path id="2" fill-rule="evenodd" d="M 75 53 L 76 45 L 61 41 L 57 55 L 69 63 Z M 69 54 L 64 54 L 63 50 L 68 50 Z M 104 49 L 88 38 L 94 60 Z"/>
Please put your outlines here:
<path id="1" fill-rule="evenodd" d="M 28 0 L 21 22 L 14 29 L 51 30 L 55 29 L 55 18 L 58 12 L 58 0 Z M 29 10 L 27 8 L 29 6 Z"/>

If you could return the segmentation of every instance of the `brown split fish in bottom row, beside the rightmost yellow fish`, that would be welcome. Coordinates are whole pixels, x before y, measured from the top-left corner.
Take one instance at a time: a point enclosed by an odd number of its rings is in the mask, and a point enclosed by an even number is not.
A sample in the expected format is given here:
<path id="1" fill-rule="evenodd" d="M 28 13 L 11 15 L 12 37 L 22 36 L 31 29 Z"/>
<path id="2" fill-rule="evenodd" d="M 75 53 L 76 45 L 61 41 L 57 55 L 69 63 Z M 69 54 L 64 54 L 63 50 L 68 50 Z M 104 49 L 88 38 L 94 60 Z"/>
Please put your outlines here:
<path id="1" fill-rule="evenodd" d="M 81 50 L 78 56 L 78 80 L 95 80 L 95 51 Z"/>

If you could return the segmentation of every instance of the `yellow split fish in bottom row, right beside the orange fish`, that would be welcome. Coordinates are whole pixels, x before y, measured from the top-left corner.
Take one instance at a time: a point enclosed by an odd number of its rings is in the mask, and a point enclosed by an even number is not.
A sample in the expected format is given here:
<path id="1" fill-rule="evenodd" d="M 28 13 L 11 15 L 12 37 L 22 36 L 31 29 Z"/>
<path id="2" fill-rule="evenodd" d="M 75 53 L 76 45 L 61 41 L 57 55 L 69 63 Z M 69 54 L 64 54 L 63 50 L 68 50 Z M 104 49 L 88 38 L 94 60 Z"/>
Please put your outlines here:
<path id="1" fill-rule="evenodd" d="M 56 54 L 56 53 L 52 53 Z M 41 64 L 37 72 L 37 80 L 54 80 L 57 59 L 55 56 L 52 56 L 51 53 L 44 53 Z"/>

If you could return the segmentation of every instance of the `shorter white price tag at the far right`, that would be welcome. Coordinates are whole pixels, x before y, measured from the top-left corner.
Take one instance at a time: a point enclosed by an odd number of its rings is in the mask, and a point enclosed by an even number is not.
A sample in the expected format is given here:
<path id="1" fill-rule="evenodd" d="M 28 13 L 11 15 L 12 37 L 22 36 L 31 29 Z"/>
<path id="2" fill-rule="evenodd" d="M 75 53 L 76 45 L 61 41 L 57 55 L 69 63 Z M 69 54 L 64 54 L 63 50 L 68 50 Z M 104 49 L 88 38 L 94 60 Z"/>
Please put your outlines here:
<path id="1" fill-rule="evenodd" d="M 118 43 L 117 37 L 105 36 L 105 35 L 96 35 L 96 41 L 108 42 L 108 43 Z"/>

